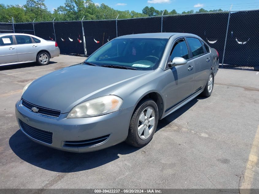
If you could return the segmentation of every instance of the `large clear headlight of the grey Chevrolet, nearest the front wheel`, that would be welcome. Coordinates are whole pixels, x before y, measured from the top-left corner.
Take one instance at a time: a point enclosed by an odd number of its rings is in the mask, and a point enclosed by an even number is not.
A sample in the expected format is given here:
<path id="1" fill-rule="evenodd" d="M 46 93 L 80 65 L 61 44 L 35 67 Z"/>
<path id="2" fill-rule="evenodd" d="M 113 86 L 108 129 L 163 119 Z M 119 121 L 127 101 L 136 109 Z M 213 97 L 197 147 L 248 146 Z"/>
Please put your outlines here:
<path id="1" fill-rule="evenodd" d="M 67 118 L 84 118 L 100 116 L 119 110 L 123 100 L 114 95 L 98 97 L 76 105 L 69 112 Z"/>

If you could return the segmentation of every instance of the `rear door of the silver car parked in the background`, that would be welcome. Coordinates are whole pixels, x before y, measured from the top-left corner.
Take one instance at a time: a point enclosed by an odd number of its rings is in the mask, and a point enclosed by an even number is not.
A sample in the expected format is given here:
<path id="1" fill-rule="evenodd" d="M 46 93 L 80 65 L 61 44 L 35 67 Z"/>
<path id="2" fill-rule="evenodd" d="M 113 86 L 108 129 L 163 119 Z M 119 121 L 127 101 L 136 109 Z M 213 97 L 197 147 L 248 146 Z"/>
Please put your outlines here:
<path id="1" fill-rule="evenodd" d="M 32 38 L 25 35 L 15 35 L 15 39 L 18 60 L 20 62 L 36 60 L 38 45 L 33 43 Z"/>

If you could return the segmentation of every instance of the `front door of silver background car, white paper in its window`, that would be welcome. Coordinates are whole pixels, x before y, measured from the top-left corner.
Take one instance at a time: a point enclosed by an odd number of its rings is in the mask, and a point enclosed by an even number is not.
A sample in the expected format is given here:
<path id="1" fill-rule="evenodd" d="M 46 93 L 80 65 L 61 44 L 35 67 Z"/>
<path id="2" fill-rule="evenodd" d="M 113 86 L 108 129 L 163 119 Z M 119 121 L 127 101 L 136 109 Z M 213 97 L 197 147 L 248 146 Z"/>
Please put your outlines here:
<path id="1" fill-rule="evenodd" d="M 0 38 L 0 64 L 14 63 L 18 61 L 16 45 L 13 44 L 13 36 Z"/>

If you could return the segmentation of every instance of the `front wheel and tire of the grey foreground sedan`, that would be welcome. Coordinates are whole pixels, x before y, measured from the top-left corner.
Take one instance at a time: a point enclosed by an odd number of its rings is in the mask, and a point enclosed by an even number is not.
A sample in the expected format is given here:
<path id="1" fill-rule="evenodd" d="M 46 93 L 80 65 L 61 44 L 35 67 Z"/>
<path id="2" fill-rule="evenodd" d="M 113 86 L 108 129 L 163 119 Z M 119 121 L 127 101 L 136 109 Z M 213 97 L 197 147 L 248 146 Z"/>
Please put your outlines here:
<path id="1" fill-rule="evenodd" d="M 151 113 L 150 110 L 152 111 Z M 149 113 L 150 117 L 148 117 Z M 142 120 L 144 121 L 142 122 Z M 142 147 L 147 145 L 153 138 L 153 135 L 157 128 L 157 124 L 157 104 L 152 99 L 145 99 L 140 101 L 137 107 L 135 108 L 134 114 L 131 117 L 126 143 L 135 147 Z M 143 132 L 139 135 L 142 129 Z"/>

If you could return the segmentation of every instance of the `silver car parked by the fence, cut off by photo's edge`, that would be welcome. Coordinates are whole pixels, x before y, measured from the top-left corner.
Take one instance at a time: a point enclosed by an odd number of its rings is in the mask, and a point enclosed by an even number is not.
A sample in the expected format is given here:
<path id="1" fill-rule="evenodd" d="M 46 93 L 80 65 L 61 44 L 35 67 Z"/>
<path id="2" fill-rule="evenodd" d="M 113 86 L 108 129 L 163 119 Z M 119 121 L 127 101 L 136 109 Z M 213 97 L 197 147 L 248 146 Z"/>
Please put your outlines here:
<path id="1" fill-rule="evenodd" d="M 59 47 L 55 41 L 30 34 L 0 34 L 0 66 L 29 62 L 47 65 L 50 58 L 59 54 Z"/>

